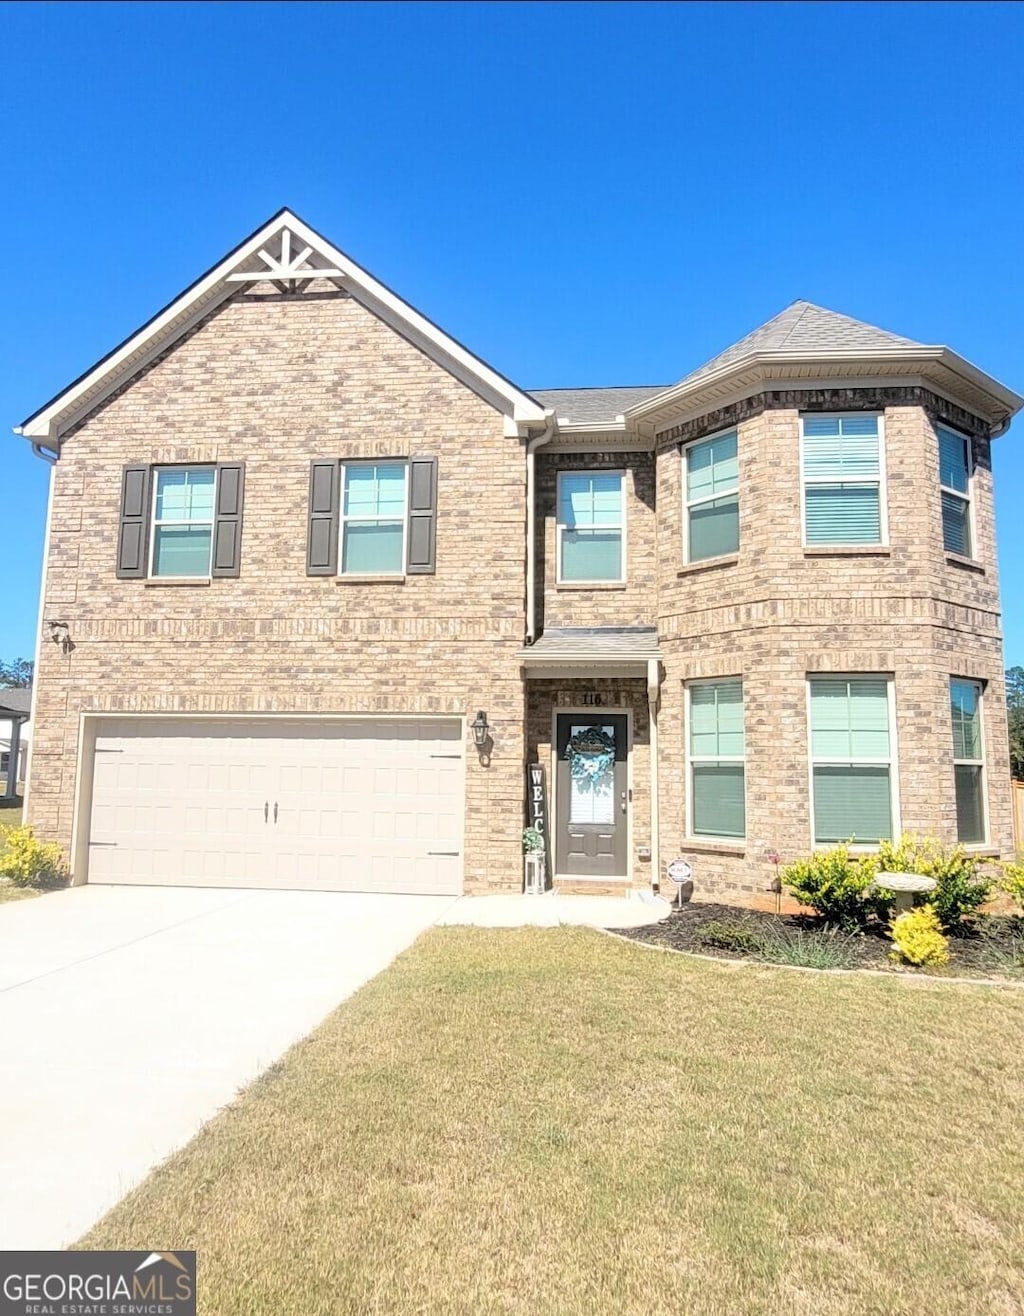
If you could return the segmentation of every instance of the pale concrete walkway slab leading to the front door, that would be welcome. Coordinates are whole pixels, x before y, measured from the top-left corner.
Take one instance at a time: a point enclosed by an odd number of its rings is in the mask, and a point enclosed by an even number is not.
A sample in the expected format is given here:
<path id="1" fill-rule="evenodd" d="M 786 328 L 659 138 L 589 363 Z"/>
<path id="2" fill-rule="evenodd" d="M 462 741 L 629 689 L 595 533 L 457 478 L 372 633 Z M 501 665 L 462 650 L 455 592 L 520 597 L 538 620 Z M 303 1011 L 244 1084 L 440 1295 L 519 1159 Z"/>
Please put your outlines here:
<path id="1" fill-rule="evenodd" d="M 671 905 L 652 892 L 624 896 L 462 896 L 437 920 L 471 928 L 644 928 L 661 923 Z"/>

